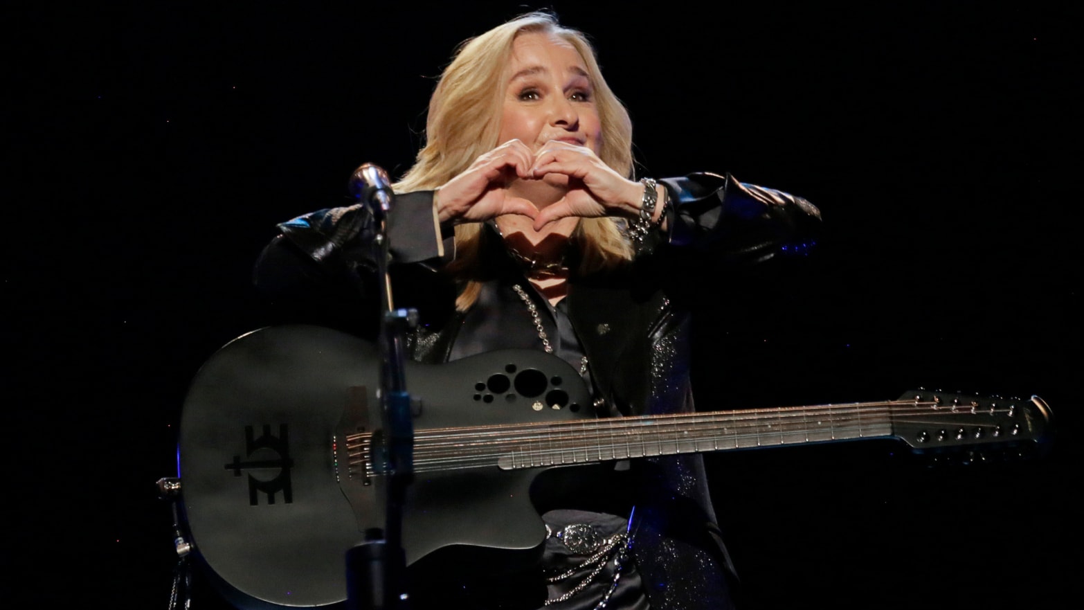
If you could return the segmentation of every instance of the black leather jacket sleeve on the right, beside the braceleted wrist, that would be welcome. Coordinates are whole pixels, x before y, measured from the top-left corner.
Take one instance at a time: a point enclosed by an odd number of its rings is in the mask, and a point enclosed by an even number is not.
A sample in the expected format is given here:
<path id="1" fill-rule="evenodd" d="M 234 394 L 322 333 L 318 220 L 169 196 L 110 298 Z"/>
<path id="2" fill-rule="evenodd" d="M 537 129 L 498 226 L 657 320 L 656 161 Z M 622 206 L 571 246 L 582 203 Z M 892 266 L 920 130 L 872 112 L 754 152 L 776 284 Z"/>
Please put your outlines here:
<path id="1" fill-rule="evenodd" d="M 730 173 L 691 173 L 659 181 L 670 195 L 662 243 L 737 262 L 804 254 L 821 211 L 802 197 L 738 182 Z"/>

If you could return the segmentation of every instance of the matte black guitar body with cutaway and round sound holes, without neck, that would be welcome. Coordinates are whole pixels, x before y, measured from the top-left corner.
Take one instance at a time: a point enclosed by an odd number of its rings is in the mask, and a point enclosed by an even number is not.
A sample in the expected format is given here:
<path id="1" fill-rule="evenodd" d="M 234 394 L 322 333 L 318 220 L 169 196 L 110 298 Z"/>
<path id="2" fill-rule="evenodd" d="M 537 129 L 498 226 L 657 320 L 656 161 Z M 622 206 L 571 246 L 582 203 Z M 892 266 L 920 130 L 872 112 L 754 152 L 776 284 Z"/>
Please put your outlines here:
<path id="1" fill-rule="evenodd" d="M 347 449 L 348 436 L 382 428 L 379 363 L 375 346 L 350 335 L 279 326 L 234 339 L 195 376 L 178 446 L 183 517 L 198 557 L 234 603 L 346 599 L 347 550 L 385 524 L 386 478 Z M 594 418 L 579 374 L 541 351 L 409 362 L 404 371 L 408 391 L 421 400 L 415 432 Z M 441 549 L 501 553 L 505 562 L 541 553 L 545 528 L 529 497 L 539 469 L 502 470 L 495 459 L 423 466 L 405 497 L 408 564 Z"/>

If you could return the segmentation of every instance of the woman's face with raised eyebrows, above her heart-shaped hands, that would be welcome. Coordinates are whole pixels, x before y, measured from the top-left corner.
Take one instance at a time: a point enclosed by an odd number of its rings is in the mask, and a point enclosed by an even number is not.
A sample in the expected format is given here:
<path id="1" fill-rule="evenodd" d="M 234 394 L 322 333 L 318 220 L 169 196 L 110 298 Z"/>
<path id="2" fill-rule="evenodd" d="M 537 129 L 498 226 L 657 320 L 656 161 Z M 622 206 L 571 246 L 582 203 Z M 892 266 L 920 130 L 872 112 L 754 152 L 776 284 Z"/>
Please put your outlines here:
<path id="1" fill-rule="evenodd" d="M 518 138 L 538 151 L 560 140 L 598 154 L 602 121 L 576 48 L 549 34 L 521 34 L 513 42 L 509 64 L 499 142 Z"/>

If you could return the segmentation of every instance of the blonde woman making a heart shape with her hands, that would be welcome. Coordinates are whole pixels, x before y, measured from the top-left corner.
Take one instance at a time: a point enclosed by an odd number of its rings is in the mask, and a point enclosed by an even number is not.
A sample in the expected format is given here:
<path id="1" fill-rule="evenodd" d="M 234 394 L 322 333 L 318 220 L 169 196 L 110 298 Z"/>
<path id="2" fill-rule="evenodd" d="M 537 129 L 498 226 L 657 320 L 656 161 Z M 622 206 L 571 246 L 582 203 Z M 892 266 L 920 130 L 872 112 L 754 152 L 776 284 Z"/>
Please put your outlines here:
<path id="1" fill-rule="evenodd" d="M 628 112 L 585 37 L 545 13 L 459 49 L 425 135 L 388 217 L 395 304 L 420 314 L 410 356 L 544 349 L 580 373 L 598 417 L 692 411 L 698 283 L 820 221 L 804 199 L 730 176 L 636 180 Z M 378 300 L 375 226 L 363 205 L 284 222 L 256 284 L 301 308 L 291 321 L 372 337 L 376 310 L 358 303 Z M 734 606 L 699 455 L 554 470 L 534 490 L 551 533 L 538 570 L 477 566 L 447 587 L 442 570 L 415 574 L 413 606 Z"/>

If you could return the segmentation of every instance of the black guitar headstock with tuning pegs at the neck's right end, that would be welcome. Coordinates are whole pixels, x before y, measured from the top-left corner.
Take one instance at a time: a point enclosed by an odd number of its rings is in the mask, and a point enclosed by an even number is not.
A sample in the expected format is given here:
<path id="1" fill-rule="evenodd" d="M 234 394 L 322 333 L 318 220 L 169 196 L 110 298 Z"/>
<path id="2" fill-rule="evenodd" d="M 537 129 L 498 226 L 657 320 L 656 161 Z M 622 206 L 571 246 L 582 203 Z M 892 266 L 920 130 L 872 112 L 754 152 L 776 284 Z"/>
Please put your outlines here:
<path id="1" fill-rule="evenodd" d="M 916 452 L 1023 447 L 1048 440 L 1050 407 L 1028 399 L 953 394 L 925 389 L 900 397 L 892 432 Z"/>

